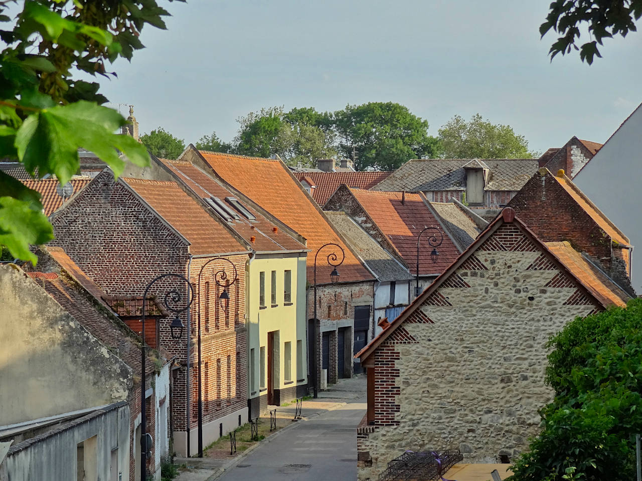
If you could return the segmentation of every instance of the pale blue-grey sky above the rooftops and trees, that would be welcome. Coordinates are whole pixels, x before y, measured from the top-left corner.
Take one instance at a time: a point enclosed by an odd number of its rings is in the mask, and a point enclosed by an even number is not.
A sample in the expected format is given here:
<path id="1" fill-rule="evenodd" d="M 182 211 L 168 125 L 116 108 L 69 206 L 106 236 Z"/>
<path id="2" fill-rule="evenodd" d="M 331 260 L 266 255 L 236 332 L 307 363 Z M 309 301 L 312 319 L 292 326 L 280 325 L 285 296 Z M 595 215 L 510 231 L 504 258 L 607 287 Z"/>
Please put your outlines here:
<path id="1" fill-rule="evenodd" d="M 186 143 L 261 107 L 394 101 L 429 123 L 479 113 L 529 148 L 573 135 L 605 142 L 642 102 L 642 34 L 605 40 L 593 65 L 548 56 L 539 36 L 550 0 L 159 0 L 168 30 L 145 26 L 131 63 L 100 80 L 134 105 L 141 133 L 162 126 Z M 125 116 L 128 107 L 121 106 Z"/>

